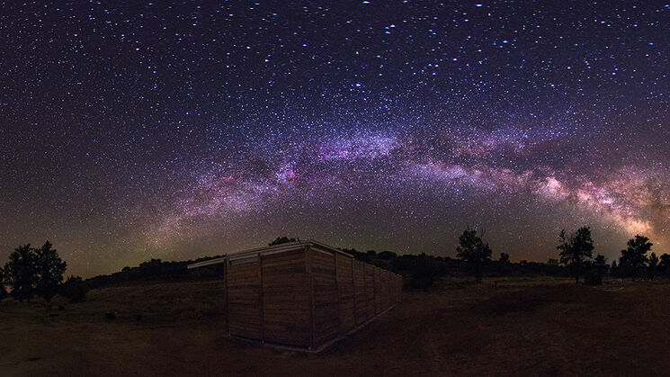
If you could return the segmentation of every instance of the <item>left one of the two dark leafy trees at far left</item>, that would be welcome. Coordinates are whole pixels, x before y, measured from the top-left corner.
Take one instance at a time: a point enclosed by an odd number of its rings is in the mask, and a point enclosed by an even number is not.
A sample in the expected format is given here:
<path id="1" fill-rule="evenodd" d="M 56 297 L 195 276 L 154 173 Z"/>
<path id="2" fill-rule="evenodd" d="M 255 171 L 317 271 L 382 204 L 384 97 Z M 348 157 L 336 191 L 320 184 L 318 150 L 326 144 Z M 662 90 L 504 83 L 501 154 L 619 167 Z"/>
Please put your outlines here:
<path id="1" fill-rule="evenodd" d="M 19 301 L 30 300 L 37 283 L 37 257 L 31 244 L 16 247 L 4 265 L 4 281 L 12 289 L 12 296 Z"/>

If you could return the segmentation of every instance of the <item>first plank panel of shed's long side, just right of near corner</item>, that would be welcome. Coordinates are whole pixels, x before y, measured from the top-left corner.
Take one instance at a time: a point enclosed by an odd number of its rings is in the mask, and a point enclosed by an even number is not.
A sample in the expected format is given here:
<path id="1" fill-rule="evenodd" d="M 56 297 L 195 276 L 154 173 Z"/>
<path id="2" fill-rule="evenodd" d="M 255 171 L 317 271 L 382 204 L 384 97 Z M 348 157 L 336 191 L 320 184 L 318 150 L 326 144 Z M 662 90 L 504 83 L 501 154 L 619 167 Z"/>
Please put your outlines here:
<path id="1" fill-rule="evenodd" d="M 312 250 L 309 254 L 314 286 L 314 345 L 320 346 L 338 335 L 337 280 L 332 252 Z"/>

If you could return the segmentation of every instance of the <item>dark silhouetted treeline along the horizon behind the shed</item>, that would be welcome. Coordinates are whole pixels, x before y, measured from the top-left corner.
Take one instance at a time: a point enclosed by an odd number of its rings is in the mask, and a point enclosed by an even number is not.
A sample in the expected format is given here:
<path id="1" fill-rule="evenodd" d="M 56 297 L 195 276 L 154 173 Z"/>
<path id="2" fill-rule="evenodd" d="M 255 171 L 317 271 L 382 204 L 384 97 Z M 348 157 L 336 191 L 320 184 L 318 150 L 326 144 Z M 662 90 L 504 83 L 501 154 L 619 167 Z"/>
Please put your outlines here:
<path id="1" fill-rule="evenodd" d="M 480 281 L 482 276 L 573 276 L 576 282 L 579 277 L 584 277 L 585 283 L 597 285 L 603 282 L 604 276 L 617 278 L 651 278 L 659 276 L 670 277 L 670 255 L 663 254 L 657 257 L 655 253 L 648 253 L 653 246 L 649 239 L 643 236 L 631 238 L 626 249 L 621 250 L 621 257 L 607 264 L 604 256 L 593 256 L 594 242 L 591 239 L 591 231 L 588 227 L 582 227 L 571 235 L 561 231 L 559 235 L 558 253 L 556 259 L 549 259 L 546 263 L 528 262 L 510 262 L 509 255 L 500 253 L 496 259 L 492 259 L 491 248 L 483 239 L 484 232 L 477 229 L 466 229 L 459 238 L 459 244 L 456 247 L 458 259 L 449 256 L 432 256 L 427 254 L 419 255 L 398 255 L 391 251 L 376 252 L 369 250 L 360 252 L 356 249 L 342 249 L 351 254 L 357 260 L 371 265 L 377 265 L 381 268 L 403 275 L 405 286 L 408 289 L 428 289 L 433 282 L 436 282 L 444 276 L 473 276 Z M 293 242 L 296 238 L 278 237 L 269 245 L 278 245 L 286 242 Z M 207 265 L 189 270 L 188 265 L 203 262 L 220 256 L 206 256 L 196 260 L 182 262 L 165 262 L 160 259 L 151 259 L 135 267 L 123 267 L 120 272 L 114 274 L 104 274 L 95 276 L 85 281 L 81 278 L 71 277 L 66 283 L 61 284 L 62 273 L 65 264 L 62 265 L 62 272 L 55 274 L 57 279 L 51 284 L 43 284 L 44 278 L 28 280 L 28 283 L 22 283 L 24 278 L 19 278 L 18 271 L 32 271 L 31 276 L 39 276 L 40 260 L 37 256 L 55 255 L 51 258 L 42 260 L 52 260 L 58 258 L 55 250 L 51 250 L 50 244 L 42 247 L 44 250 L 32 249 L 30 245 L 19 247 L 15 250 L 12 260 L 4 270 L 0 269 L 0 298 L 6 292 L 4 285 L 13 285 L 13 296 L 16 298 L 31 297 L 31 290 L 36 292 L 49 292 L 46 297 L 52 296 L 56 286 L 61 286 L 61 292 L 83 290 L 84 286 L 88 288 L 100 288 L 109 285 L 118 285 L 124 283 L 147 282 L 147 281 L 185 281 L 199 280 L 208 278 L 220 278 L 223 276 L 223 265 Z M 34 250 L 31 251 L 31 250 Z M 49 254 L 50 253 L 50 254 Z M 23 256 L 25 254 L 25 256 Z M 35 256 L 33 257 L 32 254 Z M 35 262 L 32 262 L 32 261 Z M 55 259 L 58 260 L 59 259 Z M 34 267 L 32 267 L 34 265 Z M 44 265 L 44 263 L 42 263 Z M 53 264 L 52 264 L 53 265 Z M 56 264 L 58 265 L 58 264 Z M 28 267 L 26 267 L 28 266 Z M 29 268 L 30 267 L 30 268 Z M 45 270 L 45 267 L 41 267 Z M 46 271 L 49 271 L 47 269 Z M 42 275 L 47 275 L 42 273 Z M 52 279 L 53 280 L 53 279 Z M 49 290 L 44 287 L 51 287 Z M 26 294 L 29 293 L 29 294 Z M 76 296 L 76 293 L 68 294 L 68 297 Z"/>

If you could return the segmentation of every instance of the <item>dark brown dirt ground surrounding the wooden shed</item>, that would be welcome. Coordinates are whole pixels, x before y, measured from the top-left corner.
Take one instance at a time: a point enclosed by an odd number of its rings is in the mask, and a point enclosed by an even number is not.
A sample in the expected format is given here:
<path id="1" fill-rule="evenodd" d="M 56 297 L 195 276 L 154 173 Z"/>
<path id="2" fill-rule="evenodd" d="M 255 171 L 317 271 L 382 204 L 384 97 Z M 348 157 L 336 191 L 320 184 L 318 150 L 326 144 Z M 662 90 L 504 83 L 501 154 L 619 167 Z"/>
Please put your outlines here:
<path id="1" fill-rule="evenodd" d="M 0 302 L 0 375 L 575 375 L 670 371 L 670 283 L 450 280 L 318 355 L 231 339 L 222 283 L 144 283 L 51 310 Z M 117 319 L 105 319 L 114 310 Z M 142 320 L 136 316 L 142 313 Z"/>

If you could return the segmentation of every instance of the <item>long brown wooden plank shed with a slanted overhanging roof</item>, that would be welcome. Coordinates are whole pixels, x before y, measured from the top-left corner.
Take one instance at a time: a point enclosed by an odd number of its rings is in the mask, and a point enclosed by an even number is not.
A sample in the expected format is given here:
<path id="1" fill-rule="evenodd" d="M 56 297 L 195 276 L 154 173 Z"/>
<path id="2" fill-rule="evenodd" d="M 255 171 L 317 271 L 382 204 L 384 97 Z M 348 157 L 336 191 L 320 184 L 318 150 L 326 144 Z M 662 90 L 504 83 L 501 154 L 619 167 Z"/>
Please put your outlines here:
<path id="1" fill-rule="evenodd" d="M 229 254 L 224 264 L 228 333 L 318 350 L 393 307 L 400 275 L 314 240 Z"/>

